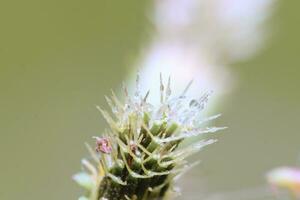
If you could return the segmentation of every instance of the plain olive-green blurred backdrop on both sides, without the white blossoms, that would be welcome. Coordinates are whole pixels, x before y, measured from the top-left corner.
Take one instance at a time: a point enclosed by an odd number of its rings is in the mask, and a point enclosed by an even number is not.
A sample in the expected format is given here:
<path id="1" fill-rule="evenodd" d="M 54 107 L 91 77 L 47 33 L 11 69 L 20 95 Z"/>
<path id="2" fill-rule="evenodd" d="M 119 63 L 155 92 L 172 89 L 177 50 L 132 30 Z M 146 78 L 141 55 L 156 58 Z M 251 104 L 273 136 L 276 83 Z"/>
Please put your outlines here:
<path id="1" fill-rule="evenodd" d="M 76 199 L 71 180 L 101 134 L 95 104 L 118 88 L 149 40 L 148 1 L 0 1 L 0 199 Z M 300 1 L 279 1 L 272 34 L 236 63 L 221 102 L 219 143 L 179 183 L 182 199 L 265 185 L 273 167 L 299 164 Z M 297 163 L 298 162 L 298 163 Z M 257 199 L 264 199 L 263 197 Z"/>

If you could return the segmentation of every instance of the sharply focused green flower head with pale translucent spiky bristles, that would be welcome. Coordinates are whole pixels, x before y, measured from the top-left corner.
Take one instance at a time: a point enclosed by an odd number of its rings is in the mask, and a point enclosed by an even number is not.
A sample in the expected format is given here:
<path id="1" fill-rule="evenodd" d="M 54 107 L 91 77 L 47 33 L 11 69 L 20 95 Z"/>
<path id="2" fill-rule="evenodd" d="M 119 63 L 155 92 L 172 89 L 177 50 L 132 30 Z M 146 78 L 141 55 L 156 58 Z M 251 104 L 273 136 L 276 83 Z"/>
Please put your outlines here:
<path id="1" fill-rule="evenodd" d="M 166 87 L 160 76 L 160 104 L 148 103 L 142 96 L 139 76 L 136 91 L 129 96 L 124 87 L 125 102 L 112 92 L 106 97 L 112 115 L 97 106 L 110 129 L 95 137 L 96 149 L 87 144 L 91 158 L 83 159 L 83 171 L 74 180 L 85 188 L 79 200 L 161 200 L 177 190 L 174 182 L 196 163 L 186 158 L 215 139 L 196 137 L 225 127 L 206 127 L 220 116 L 202 117 L 211 92 L 199 99 L 186 96 L 190 82 L 181 95 L 171 98 L 170 78 Z M 184 146 L 188 138 L 198 140 Z"/>

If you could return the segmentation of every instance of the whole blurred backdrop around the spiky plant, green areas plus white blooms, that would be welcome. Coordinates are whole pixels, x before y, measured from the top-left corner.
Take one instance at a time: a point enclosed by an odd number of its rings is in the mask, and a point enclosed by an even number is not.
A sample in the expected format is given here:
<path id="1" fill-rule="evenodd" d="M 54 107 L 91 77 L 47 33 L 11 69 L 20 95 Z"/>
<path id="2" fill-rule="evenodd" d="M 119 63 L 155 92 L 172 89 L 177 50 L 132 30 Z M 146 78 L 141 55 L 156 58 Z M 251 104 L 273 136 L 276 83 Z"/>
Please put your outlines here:
<path id="1" fill-rule="evenodd" d="M 300 165 L 300 2 L 162 2 L 0 1 L 0 199 L 78 198 L 84 142 L 106 127 L 95 105 L 138 70 L 215 90 L 229 127 L 179 199 L 275 199 L 266 172 Z"/>

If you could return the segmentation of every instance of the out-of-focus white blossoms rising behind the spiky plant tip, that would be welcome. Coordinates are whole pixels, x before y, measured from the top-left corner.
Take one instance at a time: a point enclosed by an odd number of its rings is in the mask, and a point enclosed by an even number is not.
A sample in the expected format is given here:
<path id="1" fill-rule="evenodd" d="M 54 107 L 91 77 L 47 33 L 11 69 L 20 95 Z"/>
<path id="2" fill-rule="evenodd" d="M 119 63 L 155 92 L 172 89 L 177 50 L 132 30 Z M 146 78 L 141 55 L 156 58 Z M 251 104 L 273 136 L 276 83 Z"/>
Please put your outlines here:
<path id="1" fill-rule="evenodd" d="M 227 67 L 261 47 L 273 4 L 273 0 L 155 0 L 150 15 L 154 36 L 138 63 L 144 88 L 153 87 L 161 72 L 176 80 L 178 92 L 190 80 L 193 93 L 230 91 L 234 75 Z"/>

